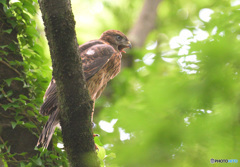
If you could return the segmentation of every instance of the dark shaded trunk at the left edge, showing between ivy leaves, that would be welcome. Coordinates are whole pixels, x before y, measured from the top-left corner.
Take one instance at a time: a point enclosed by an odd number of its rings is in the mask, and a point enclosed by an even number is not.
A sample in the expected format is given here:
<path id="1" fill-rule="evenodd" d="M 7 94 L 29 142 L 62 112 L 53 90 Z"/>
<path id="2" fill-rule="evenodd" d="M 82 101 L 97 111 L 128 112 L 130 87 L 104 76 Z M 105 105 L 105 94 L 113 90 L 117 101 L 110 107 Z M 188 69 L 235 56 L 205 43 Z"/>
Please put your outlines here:
<path id="1" fill-rule="evenodd" d="M 2 150 L 3 152 L 10 149 L 8 155 L 14 153 L 27 152 L 23 156 L 14 156 L 10 159 L 5 157 L 8 166 L 14 167 L 19 164 L 20 160 L 28 159 L 36 154 L 34 147 L 37 142 L 37 137 L 33 135 L 28 129 L 17 126 L 15 129 L 12 128 L 11 122 L 15 122 L 16 111 L 14 108 L 8 108 L 6 111 L 3 108 L 4 105 L 12 103 L 13 98 L 18 98 L 20 94 L 28 96 L 28 90 L 23 87 L 23 82 L 13 80 L 8 86 L 4 80 L 14 77 L 23 76 L 23 67 L 17 65 L 11 65 L 9 61 L 22 62 L 22 56 L 19 53 L 19 46 L 17 40 L 17 30 L 9 24 L 9 20 L 14 22 L 15 18 L 8 18 L 3 10 L 3 5 L 0 3 L 0 144 L 7 143 L 6 147 Z M 11 32 L 6 32 L 10 30 Z M 6 94 L 12 92 L 11 97 L 6 97 Z M 9 162 L 8 162 L 9 160 Z M 1 159 L 0 159 L 1 161 Z"/>

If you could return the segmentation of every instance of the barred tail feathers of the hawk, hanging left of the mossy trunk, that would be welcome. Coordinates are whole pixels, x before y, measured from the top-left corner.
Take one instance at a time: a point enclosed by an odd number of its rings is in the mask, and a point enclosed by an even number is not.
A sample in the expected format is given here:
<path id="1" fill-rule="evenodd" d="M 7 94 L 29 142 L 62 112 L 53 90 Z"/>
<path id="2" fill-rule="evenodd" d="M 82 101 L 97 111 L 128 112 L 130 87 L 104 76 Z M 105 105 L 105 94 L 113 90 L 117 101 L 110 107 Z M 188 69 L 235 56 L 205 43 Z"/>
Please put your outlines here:
<path id="1" fill-rule="evenodd" d="M 48 145 L 49 145 L 49 143 L 52 139 L 52 135 L 54 133 L 54 130 L 59 123 L 59 119 L 57 118 L 58 114 L 59 114 L 59 110 L 57 109 L 48 118 L 48 121 L 44 125 L 42 133 L 39 136 L 37 146 L 39 146 L 41 144 L 43 148 L 48 147 Z"/>

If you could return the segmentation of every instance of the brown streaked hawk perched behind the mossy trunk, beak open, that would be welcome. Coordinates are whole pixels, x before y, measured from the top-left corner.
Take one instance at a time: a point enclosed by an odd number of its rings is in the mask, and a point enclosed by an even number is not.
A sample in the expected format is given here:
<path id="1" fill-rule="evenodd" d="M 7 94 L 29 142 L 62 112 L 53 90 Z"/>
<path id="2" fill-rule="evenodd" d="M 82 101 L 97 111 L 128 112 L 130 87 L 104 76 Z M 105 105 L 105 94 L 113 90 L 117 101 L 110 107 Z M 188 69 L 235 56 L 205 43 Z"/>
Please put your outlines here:
<path id="1" fill-rule="evenodd" d="M 79 56 L 82 59 L 85 80 L 87 82 L 89 95 L 94 104 L 95 100 L 100 97 L 107 86 L 108 81 L 113 79 L 120 72 L 121 52 L 125 53 L 123 49 L 131 47 L 128 38 L 117 30 L 105 31 L 100 39 L 92 40 L 79 46 Z M 60 121 L 60 109 L 58 106 L 57 89 L 54 78 L 52 78 L 46 90 L 44 103 L 39 112 L 42 115 L 49 115 L 49 118 L 38 139 L 37 146 L 42 144 L 44 148 L 47 148 L 54 130 Z M 91 120 L 93 121 L 93 114 Z"/>

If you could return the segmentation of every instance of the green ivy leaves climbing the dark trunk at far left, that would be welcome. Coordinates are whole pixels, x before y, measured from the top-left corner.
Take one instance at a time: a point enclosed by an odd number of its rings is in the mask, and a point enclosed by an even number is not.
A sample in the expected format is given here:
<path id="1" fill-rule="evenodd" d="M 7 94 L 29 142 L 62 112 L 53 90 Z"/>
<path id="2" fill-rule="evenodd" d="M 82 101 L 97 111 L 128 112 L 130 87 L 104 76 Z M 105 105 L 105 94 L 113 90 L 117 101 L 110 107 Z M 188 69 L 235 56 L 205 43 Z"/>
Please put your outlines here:
<path id="1" fill-rule="evenodd" d="M 11 112 L 15 121 L 11 122 L 12 128 L 16 126 L 22 126 L 29 129 L 33 135 L 38 136 L 41 132 L 40 126 L 46 121 L 46 118 L 38 114 L 38 107 L 42 103 L 42 97 L 46 90 L 46 87 L 51 79 L 51 70 L 49 68 L 49 59 L 44 55 L 42 48 L 42 41 L 39 40 L 39 32 L 35 22 L 36 18 L 36 3 L 37 1 L 21 0 L 18 2 L 10 2 L 6 4 L 6 1 L 1 1 L 4 6 L 4 12 L 8 18 L 8 22 L 12 25 L 12 29 L 8 29 L 5 33 L 11 33 L 13 29 L 18 31 L 18 42 L 17 45 L 1 46 L 1 48 L 9 48 L 12 52 L 20 54 L 23 57 L 22 61 L 8 61 L 4 59 L 11 67 L 18 72 L 15 67 L 23 66 L 24 75 L 20 74 L 19 77 L 8 78 L 5 80 L 6 85 L 2 85 L 0 88 L 1 98 L 6 98 L 8 104 L 3 104 L 1 107 Z M 4 53 L 7 55 L 7 53 Z M 4 92 L 3 86 L 10 86 L 13 81 L 20 81 L 24 87 L 28 89 L 29 96 L 19 95 L 18 98 L 14 98 L 13 92 L 10 90 Z M 25 156 L 27 153 L 10 153 L 11 146 L 8 145 L 7 141 L 3 141 L 0 147 L 0 158 L 4 161 L 5 165 L 8 162 L 14 162 L 18 166 L 67 166 L 68 162 L 66 154 L 57 146 L 54 147 L 53 151 L 42 150 L 41 148 L 36 150 L 39 154 L 32 158 L 18 162 L 15 156 Z M 48 157 L 48 158 L 46 158 Z M 7 165 L 6 165 L 7 166 Z"/>

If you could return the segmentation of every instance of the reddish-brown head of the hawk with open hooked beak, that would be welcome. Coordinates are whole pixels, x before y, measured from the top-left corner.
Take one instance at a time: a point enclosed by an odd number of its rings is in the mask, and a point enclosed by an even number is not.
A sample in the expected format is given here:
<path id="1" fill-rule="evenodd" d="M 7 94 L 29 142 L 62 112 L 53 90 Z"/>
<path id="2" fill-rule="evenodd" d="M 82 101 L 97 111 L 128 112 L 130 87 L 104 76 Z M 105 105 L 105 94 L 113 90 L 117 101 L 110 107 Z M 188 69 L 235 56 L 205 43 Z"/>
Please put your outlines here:
<path id="1" fill-rule="evenodd" d="M 124 48 L 132 48 L 127 36 L 118 30 L 108 30 L 102 33 L 101 40 L 108 42 L 114 49 L 126 53 Z"/>

